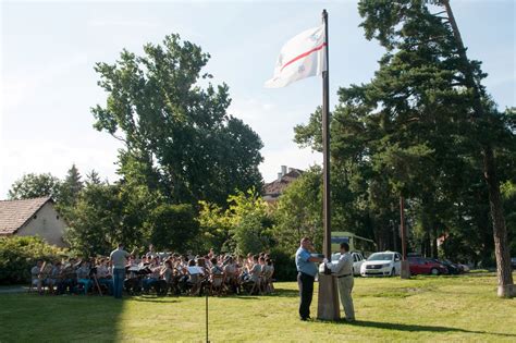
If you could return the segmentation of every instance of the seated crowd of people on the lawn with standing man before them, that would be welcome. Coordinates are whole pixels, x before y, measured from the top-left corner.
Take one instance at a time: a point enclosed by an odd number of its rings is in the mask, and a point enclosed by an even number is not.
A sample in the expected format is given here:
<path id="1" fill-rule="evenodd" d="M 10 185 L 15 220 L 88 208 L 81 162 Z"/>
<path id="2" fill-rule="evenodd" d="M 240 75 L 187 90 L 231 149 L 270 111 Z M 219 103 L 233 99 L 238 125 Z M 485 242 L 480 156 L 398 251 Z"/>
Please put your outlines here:
<path id="1" fill-rule="evenodd" d="M 116 266 L 119 257 L 122 268 Z M 149 246 L 149 252 L 143 256 L 119 249 L 110 257 L 67 258 L 53 262 L 38 260 L 30 274 L 32 287 L 39 294 L 47 291 L 51 294 L 112 294 L 121 297 L 119 287 L 130 295 L 160 296 L 268 294 L 274 291 L 274 266 L 265 253 L 244 257 L 217 255 L 210 250 L 207 255 L 193 256 L 157 253 Z"/>

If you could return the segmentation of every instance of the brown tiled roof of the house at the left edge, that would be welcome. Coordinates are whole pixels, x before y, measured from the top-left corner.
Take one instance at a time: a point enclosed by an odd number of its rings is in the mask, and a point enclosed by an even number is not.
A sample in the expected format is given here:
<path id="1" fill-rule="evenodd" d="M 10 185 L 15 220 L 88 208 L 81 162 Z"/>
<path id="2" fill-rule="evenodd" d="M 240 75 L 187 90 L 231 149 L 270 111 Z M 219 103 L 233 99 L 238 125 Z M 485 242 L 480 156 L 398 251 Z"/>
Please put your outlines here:
<path id="1" fill-rule="evenodd" d="M 0 201 L 0 235 L 15 233 L 47 204 L 47 201 L 51 201 L 51 199 L 45 197 Z"/>

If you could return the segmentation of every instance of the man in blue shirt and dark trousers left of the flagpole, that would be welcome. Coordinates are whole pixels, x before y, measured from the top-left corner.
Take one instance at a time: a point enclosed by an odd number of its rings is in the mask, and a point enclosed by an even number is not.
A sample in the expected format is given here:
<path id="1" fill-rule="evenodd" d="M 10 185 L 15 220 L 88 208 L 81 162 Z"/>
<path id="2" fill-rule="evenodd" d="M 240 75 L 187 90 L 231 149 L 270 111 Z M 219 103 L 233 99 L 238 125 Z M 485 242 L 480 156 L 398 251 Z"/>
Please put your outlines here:
<path id="1" fill-rule="evenodd" d="M 296 252 L 297 285 L 299 286 L 299 317 L 300 320 L 310 319 L 310 304 L 314 296 L 314 281 L 316 280 L 317 266 L 322 258 L 311 256 L 314 245 L 310 238 L 300 240 L 300 246 Z"/>

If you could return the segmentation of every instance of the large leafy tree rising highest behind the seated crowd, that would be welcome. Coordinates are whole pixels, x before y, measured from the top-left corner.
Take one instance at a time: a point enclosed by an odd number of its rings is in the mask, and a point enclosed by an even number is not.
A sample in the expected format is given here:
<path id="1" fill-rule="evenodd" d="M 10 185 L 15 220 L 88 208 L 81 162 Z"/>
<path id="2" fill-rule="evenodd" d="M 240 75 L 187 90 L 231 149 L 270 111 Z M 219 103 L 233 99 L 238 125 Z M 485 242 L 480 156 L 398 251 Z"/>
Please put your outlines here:
<path id="1" fill-rule="evenodd" d="M 114 64 L 97 63 L 106 106 L 91 109 L 95 127 L 122 140 L 119 172 L 159 189 L 174 204 L 207 200 L 224 206 L 235 189 L 259 187 L 259 136 L 228 114 L 225 84 L 200 78 L 209 54 L 165 36 L 144 56 L 123 50 Z"/>

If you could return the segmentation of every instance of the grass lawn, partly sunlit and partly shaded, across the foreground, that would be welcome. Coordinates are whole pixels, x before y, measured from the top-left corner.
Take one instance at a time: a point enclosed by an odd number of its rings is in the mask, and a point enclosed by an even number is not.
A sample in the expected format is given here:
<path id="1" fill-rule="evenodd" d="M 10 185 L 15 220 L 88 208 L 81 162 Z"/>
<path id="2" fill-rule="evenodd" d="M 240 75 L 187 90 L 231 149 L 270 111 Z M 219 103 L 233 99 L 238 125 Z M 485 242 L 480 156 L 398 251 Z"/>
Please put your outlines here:
<path id="1" fill-rule="evenodd" d="M 512 341 L 516 299 L 490 274 L 355 279 L 357 322 L 297 316 L 297 284 L 270 296 L 210 297 L 211 342 Z M 317 315 L 317 284 L 311 307 Z M 205 298 L 0 295 L 0 342 L 205 340 Z"/>

